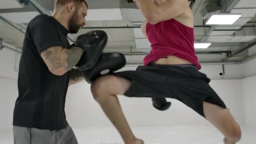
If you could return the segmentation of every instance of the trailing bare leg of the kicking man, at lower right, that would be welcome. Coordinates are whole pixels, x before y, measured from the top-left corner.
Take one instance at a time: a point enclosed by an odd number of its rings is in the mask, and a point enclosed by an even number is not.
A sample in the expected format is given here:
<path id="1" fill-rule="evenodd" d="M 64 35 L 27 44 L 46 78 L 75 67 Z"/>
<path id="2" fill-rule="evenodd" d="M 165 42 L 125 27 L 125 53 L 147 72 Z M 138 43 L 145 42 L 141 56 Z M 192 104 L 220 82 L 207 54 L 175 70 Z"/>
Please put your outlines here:
<path id="1" fill-rule="evenodd" d="M 224 144 L 235 144 L 241 139 L 241 129 L 228 109 L 203 102 L 205 118 L 224 136 Z"/>

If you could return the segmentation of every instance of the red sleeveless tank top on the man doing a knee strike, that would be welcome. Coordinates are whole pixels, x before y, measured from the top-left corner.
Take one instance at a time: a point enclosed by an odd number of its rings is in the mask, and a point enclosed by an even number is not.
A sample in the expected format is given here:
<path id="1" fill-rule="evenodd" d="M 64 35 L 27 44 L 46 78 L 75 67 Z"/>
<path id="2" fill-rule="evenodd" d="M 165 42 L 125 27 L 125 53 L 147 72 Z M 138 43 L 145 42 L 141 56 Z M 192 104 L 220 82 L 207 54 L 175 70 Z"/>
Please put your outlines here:
<path id="1" fill-rule="evenodd" d="M 154 25 L 147 23 L 146 32 L 152 49 L 144 58 L 144 65 L 173 55 L 185 59 L 195 64 L 197 69 L 201 69 L 195 55 L 193 28 L 187 27 L 175 19 L 170 19 Z"/>

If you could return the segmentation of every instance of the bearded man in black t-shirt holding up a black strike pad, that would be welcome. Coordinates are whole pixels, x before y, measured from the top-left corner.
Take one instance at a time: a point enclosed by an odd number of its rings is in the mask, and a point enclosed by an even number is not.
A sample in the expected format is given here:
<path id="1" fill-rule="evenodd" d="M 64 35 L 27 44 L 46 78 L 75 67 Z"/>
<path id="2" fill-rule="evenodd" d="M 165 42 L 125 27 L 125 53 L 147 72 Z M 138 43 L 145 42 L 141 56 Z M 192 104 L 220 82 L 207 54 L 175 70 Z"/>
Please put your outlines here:
<path id="1" fill-rule="evenodd" d="M 64 111 L 67 89 L 84 79 L 83 71 L 96 64 L 107 43 L 107 34 L 96 30 L 70 45 L 67 35 L 85 25 L 87 10 L 85 0 L 56 0 L 52 16 L 29 22 L 13 112 L 14 144 L 77 144 Z"/>

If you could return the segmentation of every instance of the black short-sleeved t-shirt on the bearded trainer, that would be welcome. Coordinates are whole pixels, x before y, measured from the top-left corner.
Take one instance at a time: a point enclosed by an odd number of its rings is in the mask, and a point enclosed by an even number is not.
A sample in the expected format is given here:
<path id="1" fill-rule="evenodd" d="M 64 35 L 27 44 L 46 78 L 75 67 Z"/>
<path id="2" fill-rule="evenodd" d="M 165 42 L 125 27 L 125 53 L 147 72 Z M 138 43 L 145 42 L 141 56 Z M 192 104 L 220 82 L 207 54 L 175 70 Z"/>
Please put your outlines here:
<path id="1" fill-rule="evenodd" d="M 38 15 L 27 27 L 19 63 L 19 96 L 13 125 L 58 130 L 67 127 L 65 99 L 69 72 L 53 75 L 40 53 L 54 46 L 69 48 L 68 30 L 55 18 Z"/>

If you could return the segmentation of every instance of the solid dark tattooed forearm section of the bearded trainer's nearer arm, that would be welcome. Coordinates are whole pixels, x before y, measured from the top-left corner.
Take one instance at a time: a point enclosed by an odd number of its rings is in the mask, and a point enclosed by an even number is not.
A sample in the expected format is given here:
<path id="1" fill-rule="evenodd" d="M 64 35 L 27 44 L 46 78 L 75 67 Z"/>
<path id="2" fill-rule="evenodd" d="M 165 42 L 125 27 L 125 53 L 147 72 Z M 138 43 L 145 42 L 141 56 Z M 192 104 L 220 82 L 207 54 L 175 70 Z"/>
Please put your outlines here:
<path id="1" fill-rule="evenodd" d="M 83 54 L 83 49 L 78 47 L 72 47 L 70 49 L 65 49 L 65 53 L 67 54 L 67 65 L 65 69 L 66 71 L 69 71 L 80 60 Z"/>

